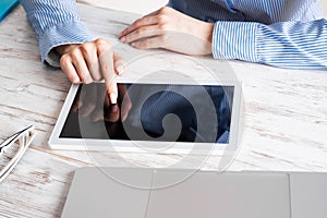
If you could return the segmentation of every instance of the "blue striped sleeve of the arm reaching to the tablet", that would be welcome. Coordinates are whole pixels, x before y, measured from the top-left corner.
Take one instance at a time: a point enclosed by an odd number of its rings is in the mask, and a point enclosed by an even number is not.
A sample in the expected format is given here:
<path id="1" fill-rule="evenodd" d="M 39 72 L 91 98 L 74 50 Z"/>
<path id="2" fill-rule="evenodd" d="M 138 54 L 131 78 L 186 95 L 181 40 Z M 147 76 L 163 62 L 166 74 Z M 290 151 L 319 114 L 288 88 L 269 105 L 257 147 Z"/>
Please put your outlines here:
<path id="1" fill-rule="evenodd" d="M 60 57 L 52 48 L 94 40 L 74 0 L 21 0 L 21 4 L 37 36 L 43 62 L 59 66 Z"/>

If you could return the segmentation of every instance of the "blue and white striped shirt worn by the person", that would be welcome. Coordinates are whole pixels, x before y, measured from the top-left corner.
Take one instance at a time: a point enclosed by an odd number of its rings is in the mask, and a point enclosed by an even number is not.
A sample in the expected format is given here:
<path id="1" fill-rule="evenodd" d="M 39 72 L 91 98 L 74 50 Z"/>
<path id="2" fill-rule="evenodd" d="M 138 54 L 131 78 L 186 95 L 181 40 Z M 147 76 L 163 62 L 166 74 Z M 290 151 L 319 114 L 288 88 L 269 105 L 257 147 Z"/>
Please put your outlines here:
<path id="1" fill-rule="evenodd" d="M 21 0 L 39 40 L 50 50 L 93 40 L 72 0 Z M 317 0 L 170 0 L 172 7 L 215 23 L 213 56 L 279 68 L 327 70 L 327 21 Z"/>

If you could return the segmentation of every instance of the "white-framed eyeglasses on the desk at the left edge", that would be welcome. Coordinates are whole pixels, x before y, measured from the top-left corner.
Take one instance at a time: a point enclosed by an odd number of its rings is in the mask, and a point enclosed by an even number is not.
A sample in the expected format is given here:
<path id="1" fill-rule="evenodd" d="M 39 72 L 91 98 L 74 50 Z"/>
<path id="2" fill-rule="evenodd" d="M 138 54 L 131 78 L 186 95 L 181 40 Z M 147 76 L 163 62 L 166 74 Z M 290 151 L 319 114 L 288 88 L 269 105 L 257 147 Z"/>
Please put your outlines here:
<path id="1" fill-rule="evenodd" d="M 14 169 L 14 167 L 17 165 L 17 162 L 22 159 L 24 153 L 31 145 L 32 141 L 35 137 L 36 132 L 34 131 L 34 126 L 31 125 L 9 138 L 7 138 L 4 142 L 0 144 L 0 157 L 3 155 L 3 153 L 12 147 L 13 145 L 17 144 L 19 149 L 15 150 L 15 155 L 11 158 L 11 160 L 4 166 L 3 169 L 0 171 L 0 182 L 2 182 L 10 172 Z"/>

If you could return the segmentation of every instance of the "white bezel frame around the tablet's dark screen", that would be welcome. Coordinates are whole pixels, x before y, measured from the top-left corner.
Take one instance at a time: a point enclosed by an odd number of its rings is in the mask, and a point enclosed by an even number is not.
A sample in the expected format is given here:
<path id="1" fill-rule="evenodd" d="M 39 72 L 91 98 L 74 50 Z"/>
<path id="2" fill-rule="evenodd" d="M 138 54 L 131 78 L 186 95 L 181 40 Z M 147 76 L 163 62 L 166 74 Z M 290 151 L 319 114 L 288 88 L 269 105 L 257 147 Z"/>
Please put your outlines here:
<path id="1" fill-rule="evenodd" d="M 194 81 L 193 81 L 194 82 Z M 132 83 L 131 80 L 121 78 L 118 81 L 118 83 Z M 137 82 L 140 83 L 140 82 Z M 148 78 L 148 81 L 143 81 L 141 83 L 150 83 L 150 84 L 175 84 L 175 85 L 192 85 L 190 84 L 189 80 L 172 80 L 166 78 L 166 80 L 155 80 L 155 78 Z M 242 106 L 242 84 L 240 81 L 220 81 L 219 83 L 213 83 L 208 82 L 206 80 L 196 80 L 195 85 L 217 85 L 217 86 L 233 86 L 234 93 L 233 93 L 233 102 L 232 102 L 232 113 L 231 113 L 231 125 L 230 125 L 230 137 L 229 137 L 229 144 L 217 144 L 217 143 L 202 143 L 201 148 L 196 148 L 196 150 L 192 150 L 192 154 L 207 154 L 208 150 L 210 153 L 220 154 L 222 150 L 235 150 L 238 148 L 238 142 L 239 142 L 239 132 L 240 132 L 240 123 L 241 123 L 241 106 Z M 108 147 L 108 140 L 88 140 L 88 138 L 60 138 L 60 133 L 62 131 L 62 128 L 64 125 L 65 119 L 70 112 L 71 105 L 73 104 L 73 100 L 75 98 L 75 95 L 77 93 L 78 85 L 72 85 L 69 94 L 66 96 L 66 99 L 63 104 L 63 107 L 61 109 L 61 112 L 59 114 L 58 121 L 53 128 L 53 131 L 49 138 L 49 146 L 52 149 L 65 149 L 65 150 L 111 150 L 112 152 L 136 152 L 136 153 L 146 153 L 146 150 L 143 150 L 142 148 L 135 146 L 133 141 L 120 141 L 120 140 L 111 140 L 111 143 L 114 142 L 114 147 Z M 165 144 L 171 143 L 171 142 L 142 142 L 147 147 L 152 146 L 154 147 L 154 150 L 158 148 L 158 153 L 168 153 L 168 154 L 189 154 L 190 149 L 194 149 L 194 143 L 180 143 L 175 142 L 173 148 L 170 148 L 168 150 L 161 150 L 160 148 L 165 147 Z M 87 144 L 87 146 L 86 146 Z"/>

